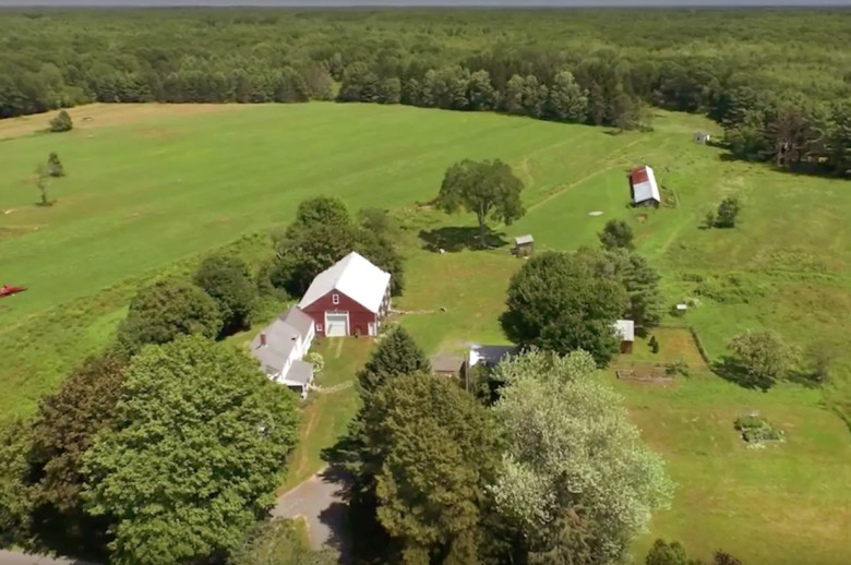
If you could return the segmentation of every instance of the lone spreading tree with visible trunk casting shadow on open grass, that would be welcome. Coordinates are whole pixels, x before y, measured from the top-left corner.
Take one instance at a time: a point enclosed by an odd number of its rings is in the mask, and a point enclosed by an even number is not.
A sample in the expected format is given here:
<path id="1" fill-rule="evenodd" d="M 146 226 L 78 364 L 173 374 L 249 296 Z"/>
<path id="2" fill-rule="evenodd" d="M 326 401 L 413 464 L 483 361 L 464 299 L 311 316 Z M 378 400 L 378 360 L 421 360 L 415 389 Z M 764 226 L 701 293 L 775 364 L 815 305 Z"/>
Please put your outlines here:
<path id="1" fill-rule="evenodd" d="M 520 191 L 523 182 L 500 159 L 481 163 L 465 159 L 446 170 L 436 204 L 448 214 L 462 207 L 476 214 L 483 248 L 488 218 L 511 225 L 525 214 Z"/>

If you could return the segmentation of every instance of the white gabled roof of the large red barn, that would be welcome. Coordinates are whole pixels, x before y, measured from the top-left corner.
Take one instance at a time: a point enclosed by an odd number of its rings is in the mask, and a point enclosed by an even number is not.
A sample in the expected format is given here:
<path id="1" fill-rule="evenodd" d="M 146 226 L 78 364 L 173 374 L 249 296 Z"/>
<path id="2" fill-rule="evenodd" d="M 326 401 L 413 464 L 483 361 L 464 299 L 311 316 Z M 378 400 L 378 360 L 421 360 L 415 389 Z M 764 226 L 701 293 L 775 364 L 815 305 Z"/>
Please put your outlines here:
<path id="1" fill-rule="evenodd" d="M 299 308 L 304 309 L 332 290 L 338 290 L 370 312 L 377 313 L 389 279 L 389 273 L 352 251 L 316 275 L 301 298 Z"/>

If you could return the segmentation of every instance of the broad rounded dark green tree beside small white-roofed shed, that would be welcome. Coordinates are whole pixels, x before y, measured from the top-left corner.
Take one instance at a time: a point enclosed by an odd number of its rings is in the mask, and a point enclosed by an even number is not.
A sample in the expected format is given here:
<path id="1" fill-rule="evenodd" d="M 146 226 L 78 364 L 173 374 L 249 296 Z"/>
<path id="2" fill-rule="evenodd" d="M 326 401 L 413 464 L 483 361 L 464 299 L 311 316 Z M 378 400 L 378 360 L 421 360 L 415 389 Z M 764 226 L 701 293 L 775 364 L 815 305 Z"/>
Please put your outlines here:
<path id="1" fill-rule="evenodd" d="M 627 304 L 616 276 L 600 276 L 596 252 L 539 253 L 508 286 L 502 326 L 513 341 L 556 353 L 590 352 L 599 365 L 618 349 L 613 325 Z"/>

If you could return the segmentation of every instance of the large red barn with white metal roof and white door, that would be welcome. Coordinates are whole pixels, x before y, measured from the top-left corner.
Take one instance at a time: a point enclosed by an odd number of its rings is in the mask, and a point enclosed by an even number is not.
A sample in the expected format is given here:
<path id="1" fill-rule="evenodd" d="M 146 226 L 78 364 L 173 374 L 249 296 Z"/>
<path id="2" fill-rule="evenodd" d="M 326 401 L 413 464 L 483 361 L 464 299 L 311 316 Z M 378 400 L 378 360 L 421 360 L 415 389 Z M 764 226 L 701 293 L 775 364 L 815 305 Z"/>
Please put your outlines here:
<path id="1" fill-rule="evenodd" d="M 299 309 L 313 318 L 316 335 L 376 336 L 389 310 L 389 279 L 352 251 L 316 275 Z"/>

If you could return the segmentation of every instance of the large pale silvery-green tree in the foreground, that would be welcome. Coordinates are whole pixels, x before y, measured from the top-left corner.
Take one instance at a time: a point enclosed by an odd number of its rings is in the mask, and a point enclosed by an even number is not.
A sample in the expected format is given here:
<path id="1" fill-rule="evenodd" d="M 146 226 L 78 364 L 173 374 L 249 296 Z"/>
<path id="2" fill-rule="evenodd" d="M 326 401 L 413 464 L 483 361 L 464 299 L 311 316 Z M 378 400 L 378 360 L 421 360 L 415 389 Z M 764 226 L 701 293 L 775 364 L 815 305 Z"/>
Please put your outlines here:
<path id="1" fill-rule="evenodd" d="M 662 459 L 595 371 L 585 351 L 531 351 L 496 368 L 507 449 L 492 490 L 532 563 L 618 563 L 670 500 Z"/>

